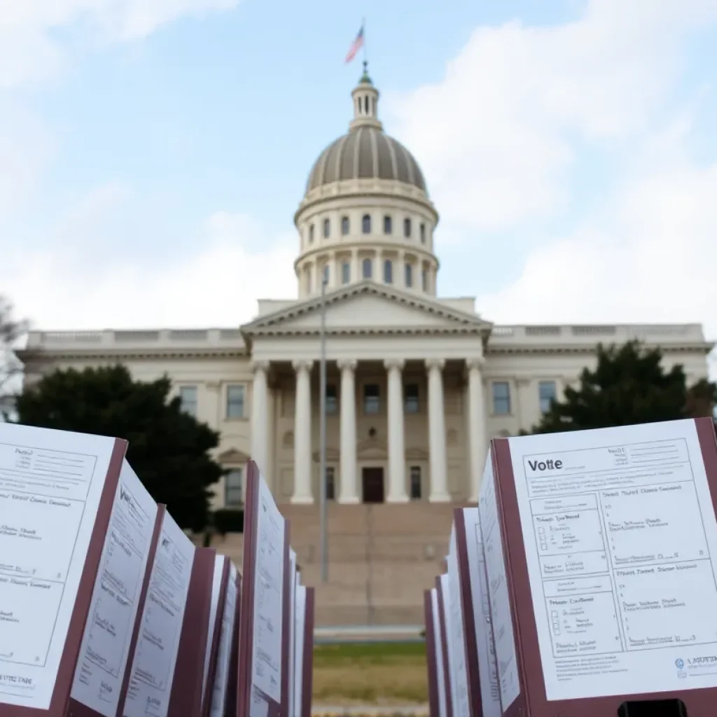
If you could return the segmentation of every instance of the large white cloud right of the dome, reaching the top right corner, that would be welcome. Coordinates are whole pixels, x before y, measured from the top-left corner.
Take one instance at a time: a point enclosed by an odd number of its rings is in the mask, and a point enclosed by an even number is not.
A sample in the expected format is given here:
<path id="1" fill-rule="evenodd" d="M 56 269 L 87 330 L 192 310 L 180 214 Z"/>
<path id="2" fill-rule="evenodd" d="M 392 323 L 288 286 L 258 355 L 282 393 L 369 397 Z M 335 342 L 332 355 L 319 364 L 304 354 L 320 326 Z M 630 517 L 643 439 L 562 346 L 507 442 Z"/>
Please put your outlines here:
<path id="1" fill-rule="evenodd" d="M 575 22 L 480 27 L 442 82 L 387 99 L 449 232 L 525 226 L 569 202 L 578 143 L 651 129 L 686 33 L 716 0 L 594 0 Z"/>

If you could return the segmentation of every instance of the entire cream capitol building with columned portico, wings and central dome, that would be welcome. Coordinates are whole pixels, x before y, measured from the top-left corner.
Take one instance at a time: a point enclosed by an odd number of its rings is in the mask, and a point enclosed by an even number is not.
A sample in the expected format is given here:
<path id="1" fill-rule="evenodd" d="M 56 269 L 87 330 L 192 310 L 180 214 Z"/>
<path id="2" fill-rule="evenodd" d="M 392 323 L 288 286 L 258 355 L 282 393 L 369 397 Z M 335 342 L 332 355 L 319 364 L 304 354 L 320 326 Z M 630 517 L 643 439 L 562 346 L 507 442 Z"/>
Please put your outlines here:
<path id="1" fill-rule="evenodd" d="M 118 362 L 140 380 L 168 374 L 184 409 L 221 434 L 214 507 L 232 508 L 250 457 L 279 503 L 318 501 L 322 315 L 336 503 L 475 500 L 490 438 L 536 424 L 599 342 L 638 338 L 690 383 L 707 376 L 697 324 L 496 326 L 473 298 L 439 297 L 430 177 L 384 133 L 366 71 L 351 108 L 295 212 L 298 299 L 260 300 L 239 327 L 34 331 L 27 379 Z"/>

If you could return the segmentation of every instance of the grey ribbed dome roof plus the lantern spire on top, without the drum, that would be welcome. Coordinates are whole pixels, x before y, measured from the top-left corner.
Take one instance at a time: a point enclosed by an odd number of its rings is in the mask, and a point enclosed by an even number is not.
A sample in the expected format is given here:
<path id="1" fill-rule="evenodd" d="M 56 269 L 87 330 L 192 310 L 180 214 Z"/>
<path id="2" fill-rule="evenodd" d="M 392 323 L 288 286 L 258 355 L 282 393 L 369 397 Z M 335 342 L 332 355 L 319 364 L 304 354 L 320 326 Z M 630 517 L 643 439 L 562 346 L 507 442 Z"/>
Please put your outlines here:
<path id="1" fill-rule="evenodd" d="M 311 168 L 306 193 L 335 181 L 386 179 L 427 193 L 423 173 L 412 153 L 384 133 L 378 118 L 379 91 L 366 70 L 351 92 L 353 120 L 348 133 L 333 141 Z"/>

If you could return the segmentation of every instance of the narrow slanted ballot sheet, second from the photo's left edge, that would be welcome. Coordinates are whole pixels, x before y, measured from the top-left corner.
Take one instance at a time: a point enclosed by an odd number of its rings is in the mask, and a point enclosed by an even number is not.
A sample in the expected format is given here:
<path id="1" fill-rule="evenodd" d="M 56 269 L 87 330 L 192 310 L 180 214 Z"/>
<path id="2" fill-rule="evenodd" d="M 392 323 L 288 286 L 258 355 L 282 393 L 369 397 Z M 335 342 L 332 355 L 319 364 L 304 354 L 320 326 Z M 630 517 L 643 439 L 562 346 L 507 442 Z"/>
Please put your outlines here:
<path id="1" fill-rule="evenodd" d="M 115 717 L 157 516 L 125 460 L 110 515 L 71 696 Z"/>

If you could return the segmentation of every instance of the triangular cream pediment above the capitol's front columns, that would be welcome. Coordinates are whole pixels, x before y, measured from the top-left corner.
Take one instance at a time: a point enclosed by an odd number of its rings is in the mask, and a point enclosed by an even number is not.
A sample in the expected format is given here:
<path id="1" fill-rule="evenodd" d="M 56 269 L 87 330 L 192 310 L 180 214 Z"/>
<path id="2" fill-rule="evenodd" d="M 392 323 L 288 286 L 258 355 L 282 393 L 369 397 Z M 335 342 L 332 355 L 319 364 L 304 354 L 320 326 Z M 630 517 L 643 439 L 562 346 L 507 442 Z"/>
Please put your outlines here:
<path id="1" fill-rule="evenodd" d="M 326 331 L 359 333 L 479 333 L 492 324 L 440 300 L 364 281 L 326 294 Z M 246 336 L 318 333 L 320 298 L 298 301 L 242 326 Z"/>

